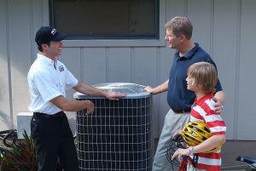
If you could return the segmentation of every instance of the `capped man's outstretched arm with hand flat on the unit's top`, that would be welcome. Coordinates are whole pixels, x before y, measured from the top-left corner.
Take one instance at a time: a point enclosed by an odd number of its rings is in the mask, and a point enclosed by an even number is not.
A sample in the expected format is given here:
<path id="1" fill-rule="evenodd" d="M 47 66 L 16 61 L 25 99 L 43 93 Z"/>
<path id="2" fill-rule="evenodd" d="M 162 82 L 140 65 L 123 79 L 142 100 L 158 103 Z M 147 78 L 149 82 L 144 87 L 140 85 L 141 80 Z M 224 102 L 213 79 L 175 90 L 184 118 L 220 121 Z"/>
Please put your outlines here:
<path id="1" fill-rule="evenodd" d="M 73 87 L 73 89 L 82 94 L 103 96 L 108 98 L 109 100 L 119 100 L 119 98 L 125 96 L 125 94 L 121 94 L 119 92 L 105 92 L 99 88 L 95 88 L 93 86 L 81 82 L 79 82 L 75 87 Z"/>

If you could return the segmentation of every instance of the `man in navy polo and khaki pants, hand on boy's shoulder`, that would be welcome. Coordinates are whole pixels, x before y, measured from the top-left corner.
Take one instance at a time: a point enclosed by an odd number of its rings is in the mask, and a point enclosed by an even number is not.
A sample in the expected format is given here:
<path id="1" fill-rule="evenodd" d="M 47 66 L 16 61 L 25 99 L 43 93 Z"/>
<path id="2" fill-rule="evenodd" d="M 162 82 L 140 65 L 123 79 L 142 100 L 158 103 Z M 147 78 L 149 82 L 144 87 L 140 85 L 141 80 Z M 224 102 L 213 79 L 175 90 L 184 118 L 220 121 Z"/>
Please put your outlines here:
<path id="1" fill-rule="evenodd" d="M 174 54 L 169 79 L 155 88 L 150 86 L 145 88 L 151 94 L 160 94 L 168 91 L 167 102 L 171 108 L 166 114 L 164 127 L 155 151 L 153 171 L 172 170 L 171 163 L 166 159 L 166 150 L 171 143 L 174 131 L 183 128 L 186 123 L 189 123 L 191 105 L 195 101 L 195 94 L 187 89 L 185 81 L 187 69 L 191 64 L 200 61 L 209 62 L 216 66 L 211 56 L 198 43 L 190 40 L 192 31 L 193 26 L 186 17 L 174 17 L 166 23 L 166 42 L 169 48 L 177 49 L 177 53 Z M 216 86 L 214 100 L 217 102 L 215 110 L 220 113 L 223 108 L 224 92 L 219 81 Z"/>

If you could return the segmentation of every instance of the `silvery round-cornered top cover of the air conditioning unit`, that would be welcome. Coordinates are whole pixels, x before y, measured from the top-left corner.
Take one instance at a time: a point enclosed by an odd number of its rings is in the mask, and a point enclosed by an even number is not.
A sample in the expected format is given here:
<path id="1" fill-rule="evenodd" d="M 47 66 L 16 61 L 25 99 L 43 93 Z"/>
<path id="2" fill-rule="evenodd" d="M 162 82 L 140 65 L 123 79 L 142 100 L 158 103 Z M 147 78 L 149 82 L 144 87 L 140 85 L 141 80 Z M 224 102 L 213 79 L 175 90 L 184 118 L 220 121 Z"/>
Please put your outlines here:
<path id="1" fill-rule="evenodd" d="M 139 85 L 137 83 L 98 83 L 93 86 L 96 88 L 100 88 L 103 91 L 123 93 L 125 94 L 125 97 L 122 99 L 137 99 L 137 98 L 145 98 L 150 96 L 150 94 L 144 89 L 145 86 Z M 88 97 L 92 99 L 105 98 L 105 97 L 81 94 L 79 92 L 73 94 L 73 98 L 75 99 L 85 99 Z"/>

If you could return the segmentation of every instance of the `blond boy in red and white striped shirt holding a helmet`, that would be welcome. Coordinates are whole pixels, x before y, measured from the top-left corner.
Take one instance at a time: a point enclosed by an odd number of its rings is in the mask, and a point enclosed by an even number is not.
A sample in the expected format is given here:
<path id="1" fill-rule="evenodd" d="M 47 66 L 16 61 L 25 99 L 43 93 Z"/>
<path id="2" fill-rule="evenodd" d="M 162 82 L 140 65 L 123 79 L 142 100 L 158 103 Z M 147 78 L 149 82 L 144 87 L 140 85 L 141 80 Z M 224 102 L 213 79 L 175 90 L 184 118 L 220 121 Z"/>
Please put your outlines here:
<path id="1" fill-rule="evenodd" d="M 172 160 L 175 157 L 181 159 L 183 156 L 189 156 L 187 170 L 218 171 L 221 165 L 220 150 L 207 152 L 218 145 L 224 144 L 225 141 L 226 126 L 223 119 L 214 110 L 215 101 L 212 100 L 214 87 L 218 80 L 217 71 L 212 64 L 198 62 L 189 66 L 187 74 L 187 88 L 195 92 L 196 96 L 195 103 L 191 107 L 190 122 L 207 123 L 207 127 L 212 132 L 212 137 L 199 145 L 189 146 L 187 149 L 178 149 L 173 154 Z M 193 158 L 197 158 L 196 164 L 191 162 L 194 161 Z"/>

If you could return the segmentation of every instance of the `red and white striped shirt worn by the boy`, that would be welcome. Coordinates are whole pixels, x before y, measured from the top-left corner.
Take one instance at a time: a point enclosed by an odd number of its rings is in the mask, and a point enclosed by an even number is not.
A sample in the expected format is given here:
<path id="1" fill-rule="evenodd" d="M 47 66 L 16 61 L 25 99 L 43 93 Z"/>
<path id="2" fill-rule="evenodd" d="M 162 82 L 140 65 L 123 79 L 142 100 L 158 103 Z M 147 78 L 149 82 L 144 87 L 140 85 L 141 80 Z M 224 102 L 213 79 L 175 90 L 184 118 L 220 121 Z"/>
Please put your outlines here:
<path id="1" fill-rule="evenodd" d="M 191 107 L 190 121 L 207 123 L 208 128 L 211 129 L 212 135 L 225 134 L 226 124 L 224 123 L 223 119 L 216 114 L 216 111 L 214 110 L 215 101 L 212 100 L 212 98 L 212 94 L 207 94 L 201 99 L 195 100 L 195 103 Z M 206 169 L 209 171 L 218 171 L 220 170 L 220 166 L 220 150 L 198 154 L 196 168 Z"/>

